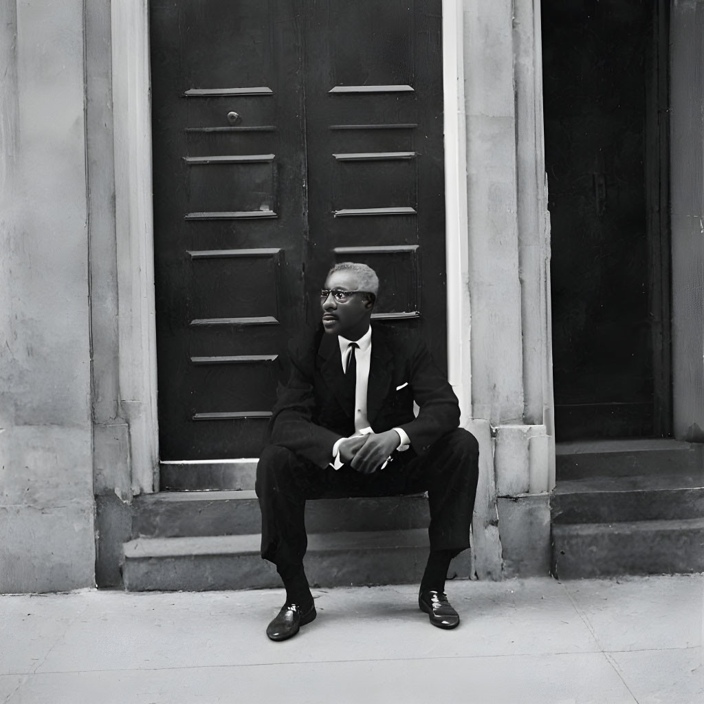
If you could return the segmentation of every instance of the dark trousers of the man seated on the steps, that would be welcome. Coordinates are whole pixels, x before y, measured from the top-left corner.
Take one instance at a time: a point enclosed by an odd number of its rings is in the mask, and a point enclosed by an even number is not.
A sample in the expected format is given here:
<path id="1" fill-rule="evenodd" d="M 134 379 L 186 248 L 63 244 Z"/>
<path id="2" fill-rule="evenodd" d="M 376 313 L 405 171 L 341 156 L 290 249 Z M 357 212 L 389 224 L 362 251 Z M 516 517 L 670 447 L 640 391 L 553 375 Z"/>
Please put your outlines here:
<path id="1" fill-rule="evenodd" d="M 342 496 L 398 496 L 428 492 L 431 550 L 460 552 L 470 545 L 470 525 L 479 478 L 479 445 L 457 428 L 427 452 L 396 452 L 383 470 L 360 474 L 343 465 L 320 469 L 275 445 L 257 465 L 256 494 L 262 513 L 262 557 L 275 565 L 303 562 L 306 499 Z"/>

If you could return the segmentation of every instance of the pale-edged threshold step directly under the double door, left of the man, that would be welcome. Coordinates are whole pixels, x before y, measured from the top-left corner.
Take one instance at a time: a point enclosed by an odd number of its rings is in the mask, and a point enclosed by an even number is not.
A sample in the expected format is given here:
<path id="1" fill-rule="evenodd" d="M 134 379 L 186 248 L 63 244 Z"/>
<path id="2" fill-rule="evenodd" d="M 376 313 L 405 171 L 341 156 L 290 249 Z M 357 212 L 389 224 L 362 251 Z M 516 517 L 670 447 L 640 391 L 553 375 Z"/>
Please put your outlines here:
<path id="1" fill-rule="evenodd" d="M 239 491 L 254 489 L 257 460 L 160 462 L 161 491 Z"/>

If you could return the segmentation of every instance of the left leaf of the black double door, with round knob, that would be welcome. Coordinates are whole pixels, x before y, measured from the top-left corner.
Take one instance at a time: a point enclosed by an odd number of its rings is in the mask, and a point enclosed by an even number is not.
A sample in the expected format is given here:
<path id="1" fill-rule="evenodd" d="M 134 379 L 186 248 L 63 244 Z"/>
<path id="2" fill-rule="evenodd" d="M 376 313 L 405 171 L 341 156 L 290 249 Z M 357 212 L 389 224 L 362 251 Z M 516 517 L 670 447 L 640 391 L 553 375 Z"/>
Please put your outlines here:
<path id="1" fill-rule="evenodd" d="M 163 460 L 253 456 L 301 318 L 300 27 L 284 0 L 153 0 Z"/>

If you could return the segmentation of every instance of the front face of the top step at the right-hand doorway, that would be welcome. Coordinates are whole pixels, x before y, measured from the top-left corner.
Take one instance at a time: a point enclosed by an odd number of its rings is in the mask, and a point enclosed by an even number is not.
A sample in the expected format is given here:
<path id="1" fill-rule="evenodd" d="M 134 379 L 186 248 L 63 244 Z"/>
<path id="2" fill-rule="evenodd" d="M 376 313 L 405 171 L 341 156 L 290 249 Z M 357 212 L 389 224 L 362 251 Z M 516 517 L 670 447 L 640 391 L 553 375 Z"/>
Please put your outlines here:
<path id="1" fill-rule="evenodd" d="M 674 472 L 704 472 L 703 447 L 691 445 L 677 450 L 558 454 L 555 458 L 555 477 L 558 481 Z"/>

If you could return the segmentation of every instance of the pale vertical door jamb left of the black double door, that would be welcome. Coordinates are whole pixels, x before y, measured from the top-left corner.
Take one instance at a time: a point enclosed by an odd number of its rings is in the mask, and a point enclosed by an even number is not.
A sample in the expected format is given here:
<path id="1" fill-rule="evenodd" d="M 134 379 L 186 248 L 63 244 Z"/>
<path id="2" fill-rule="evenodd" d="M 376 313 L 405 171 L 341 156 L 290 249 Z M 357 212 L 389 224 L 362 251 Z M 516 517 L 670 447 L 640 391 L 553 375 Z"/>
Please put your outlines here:
<path id="1" fill-rule="evenodd" d="M 149 3 L 111 3 L 120 410 L 132 491 L 158 489 Z"/>

